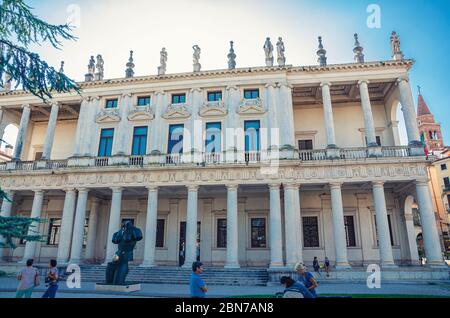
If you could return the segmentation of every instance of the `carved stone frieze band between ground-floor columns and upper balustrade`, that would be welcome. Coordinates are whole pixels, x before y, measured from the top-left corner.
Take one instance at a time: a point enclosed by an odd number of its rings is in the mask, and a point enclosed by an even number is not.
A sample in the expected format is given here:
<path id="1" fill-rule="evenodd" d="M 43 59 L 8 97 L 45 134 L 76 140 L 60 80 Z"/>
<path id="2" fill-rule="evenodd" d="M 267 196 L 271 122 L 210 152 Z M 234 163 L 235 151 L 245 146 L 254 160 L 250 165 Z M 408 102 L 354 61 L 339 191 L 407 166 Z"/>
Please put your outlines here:
<path id="1" fill-rule="evenodd" d="M 266 175 L 260 167 L 215 167 L 214 169 L 183 167 L 142 169 L 130 167 L 128 171 L 114 167 L 70 168 L 62 174 L 28 173 L 14 176 L 4 175 L 0 178 L 0 187 L 7 190 L 27 189 L 61 189 L 64 187 L 144 187 L 174 186 L 183 183 L 198 185 L 218 184 L 270 184 L 279 183 L 332 183 L 332 182 L 367 182 L 367 181 L 413 181 L 426 179 L 425 163 L 390 163 L 390 164 L 352 164 L 342 166 L 282 166 L 278 174 Z"/>

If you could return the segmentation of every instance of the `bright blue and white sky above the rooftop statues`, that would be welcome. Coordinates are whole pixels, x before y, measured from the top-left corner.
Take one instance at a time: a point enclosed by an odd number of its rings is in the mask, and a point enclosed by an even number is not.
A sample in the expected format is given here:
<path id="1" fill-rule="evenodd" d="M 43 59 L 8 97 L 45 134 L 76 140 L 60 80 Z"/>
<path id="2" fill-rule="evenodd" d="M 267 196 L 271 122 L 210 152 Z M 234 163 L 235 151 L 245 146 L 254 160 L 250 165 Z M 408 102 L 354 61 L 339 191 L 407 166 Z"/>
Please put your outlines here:
<path id="1" fill-rule="evenodd" d="M 226 67 L 228 42 L 235 41 L 238 67 L 264 64 L 266 36 L 282 36 L 287 63 L 316 64 L 318 35 L 329 63 L 351 62 L 353 33 L 360 35 L 366 61 L 390 58 L 389 35 L 396 30 L 406 57 L 416 64 L 417 85 L 450 145 L 450 0 L 29 0 L 39 16 L 54 23 L 75 17 L 77 43 L 62 51 L 38 48 L 52 64 L 66 61 L 66 73 L 81 80 L 90 55 L 103 54 L 105 75 L 123 77 L 128 51 L 135 51 L 136 75 L 155 74 L 159 51 L 169 52 L 168 72 L 190 71 L 192 45 L 202 48 L 203 69 Z M 77 7 L 70 7 L 71 4 Z M 367 7 L 381 10 L 381 28 L 369 28 Z M 75 9 L 74 9 L 75 8 Z M 78 10 L 79 9 L 79 10 Z M 78 12 L 80 13 L 78 15 Z"/>

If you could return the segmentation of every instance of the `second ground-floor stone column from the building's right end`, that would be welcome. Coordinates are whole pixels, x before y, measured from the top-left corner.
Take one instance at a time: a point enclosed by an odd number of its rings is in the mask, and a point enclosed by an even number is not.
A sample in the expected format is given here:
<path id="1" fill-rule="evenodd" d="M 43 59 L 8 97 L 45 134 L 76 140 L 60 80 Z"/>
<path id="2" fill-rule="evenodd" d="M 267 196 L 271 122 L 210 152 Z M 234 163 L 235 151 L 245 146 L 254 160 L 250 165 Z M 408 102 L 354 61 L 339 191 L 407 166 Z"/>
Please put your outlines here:
<path id="1" fill-rule="evenodd" d="M 394 267 L 383 182 L 372 182 L 372 190 L 377 222 L 378 248 L 380 249 L 380 264 L 382 267 Z"/>

